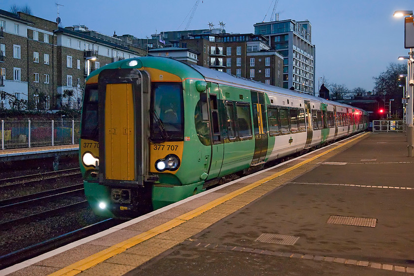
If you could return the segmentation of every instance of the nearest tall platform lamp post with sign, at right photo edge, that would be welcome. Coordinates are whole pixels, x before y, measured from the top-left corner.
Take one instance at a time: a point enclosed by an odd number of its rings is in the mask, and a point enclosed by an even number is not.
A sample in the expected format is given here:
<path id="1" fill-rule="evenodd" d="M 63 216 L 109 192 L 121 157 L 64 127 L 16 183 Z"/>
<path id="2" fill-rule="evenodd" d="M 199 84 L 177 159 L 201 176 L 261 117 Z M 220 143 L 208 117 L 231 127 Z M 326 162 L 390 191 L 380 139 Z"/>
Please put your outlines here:
<path id="1" fill-rule="evenodd" d="M 407 105 L 407 148 L 408 157 L 414 157 L 414 125 L 413 125 L 413 99 L 414 99 L 414 21 L 412 10 L 397 10 L 394 12 L 394 16 L 405 17 L 404 25 L 404 48 L 410 49 L 408 59 L 408 105 Z"/>

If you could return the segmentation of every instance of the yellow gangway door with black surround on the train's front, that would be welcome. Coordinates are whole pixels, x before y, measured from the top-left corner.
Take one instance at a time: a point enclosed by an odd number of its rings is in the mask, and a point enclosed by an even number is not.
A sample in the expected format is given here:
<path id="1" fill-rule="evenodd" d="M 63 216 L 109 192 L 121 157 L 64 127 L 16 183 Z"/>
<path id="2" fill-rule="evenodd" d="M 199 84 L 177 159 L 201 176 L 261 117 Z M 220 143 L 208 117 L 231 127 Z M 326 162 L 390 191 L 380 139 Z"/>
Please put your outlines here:
<path id="1" fill-rule="evenodd" d="M 148 168 L 149 76 L 106 69 L 98 79 L 100 182 L 139 184 Z"/>

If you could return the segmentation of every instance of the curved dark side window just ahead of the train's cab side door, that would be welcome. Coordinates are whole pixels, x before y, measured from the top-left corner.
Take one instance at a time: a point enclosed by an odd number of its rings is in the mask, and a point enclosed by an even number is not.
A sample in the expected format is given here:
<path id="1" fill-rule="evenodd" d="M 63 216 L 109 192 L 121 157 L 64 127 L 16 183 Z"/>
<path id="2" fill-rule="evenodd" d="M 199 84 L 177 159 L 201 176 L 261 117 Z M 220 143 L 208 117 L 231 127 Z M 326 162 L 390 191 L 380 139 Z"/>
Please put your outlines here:
<path id="1" fill-rule="evenodd" d="M 200 93 L 200 100 L 194 111 L 197 137 L 204 145 L 210 145 L 210 123 L 208 121 L 207 94 Z"/>

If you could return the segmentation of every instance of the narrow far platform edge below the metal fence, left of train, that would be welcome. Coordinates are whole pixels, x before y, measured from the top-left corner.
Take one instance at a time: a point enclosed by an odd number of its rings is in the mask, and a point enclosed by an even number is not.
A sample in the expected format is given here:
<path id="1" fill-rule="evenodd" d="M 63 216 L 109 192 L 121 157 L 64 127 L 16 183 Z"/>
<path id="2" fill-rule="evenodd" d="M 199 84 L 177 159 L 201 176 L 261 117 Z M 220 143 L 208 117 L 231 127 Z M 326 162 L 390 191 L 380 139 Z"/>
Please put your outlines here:
<path id="1" fill-rule="evenodd" d="M 77 155 L 78 151 L 78 144 L 1 149 L 0 162 Z"/>

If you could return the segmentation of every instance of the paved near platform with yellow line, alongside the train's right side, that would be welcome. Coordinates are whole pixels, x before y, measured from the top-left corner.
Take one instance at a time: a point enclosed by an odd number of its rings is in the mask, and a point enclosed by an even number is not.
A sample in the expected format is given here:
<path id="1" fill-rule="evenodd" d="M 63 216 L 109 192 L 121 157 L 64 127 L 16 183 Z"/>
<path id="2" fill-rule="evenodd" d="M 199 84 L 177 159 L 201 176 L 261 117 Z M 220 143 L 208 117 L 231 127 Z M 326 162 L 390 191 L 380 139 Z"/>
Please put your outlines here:
<path id="1" fill-rule="evenodd" d="M 413 165 L 404 134 L 359 134 L 0 275 L 413 275 Z"/>

